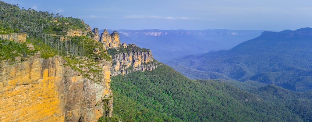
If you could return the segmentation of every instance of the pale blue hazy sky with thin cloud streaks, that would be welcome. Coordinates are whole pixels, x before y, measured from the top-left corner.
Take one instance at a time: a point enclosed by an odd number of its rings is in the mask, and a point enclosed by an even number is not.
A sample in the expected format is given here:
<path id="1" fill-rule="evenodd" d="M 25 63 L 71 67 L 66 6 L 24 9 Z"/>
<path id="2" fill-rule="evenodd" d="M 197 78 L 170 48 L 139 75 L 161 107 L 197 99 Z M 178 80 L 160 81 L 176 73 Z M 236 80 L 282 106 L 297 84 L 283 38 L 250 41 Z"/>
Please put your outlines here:
<path id="1" fill-rule="evenodd" d="M 312 27 L 310 0 L 2 0 L 78 17 L 99 29 L 296 30 Z"/>

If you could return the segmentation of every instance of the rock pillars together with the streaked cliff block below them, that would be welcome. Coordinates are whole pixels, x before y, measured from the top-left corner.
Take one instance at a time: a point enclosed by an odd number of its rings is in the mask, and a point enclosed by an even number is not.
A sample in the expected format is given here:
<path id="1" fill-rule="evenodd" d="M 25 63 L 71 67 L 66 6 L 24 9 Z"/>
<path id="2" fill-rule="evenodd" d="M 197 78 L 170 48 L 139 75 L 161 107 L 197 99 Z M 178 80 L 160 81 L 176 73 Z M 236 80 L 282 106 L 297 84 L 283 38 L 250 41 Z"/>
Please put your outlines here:
<path id="1" fill-rule="evenodd" d="M 94 28 L 93 33 L 96 40 L 98 28 Z M 159 65 L 149 49 L 140 48 L 135 44 L 121 44 L 116 31 L 110 34 L 104 29 L 100 36 L 100 42 L 112 56 L 112 68 L 110 69 L 112 76 L 124 75 L 133 71 L 151 71 Z"/>

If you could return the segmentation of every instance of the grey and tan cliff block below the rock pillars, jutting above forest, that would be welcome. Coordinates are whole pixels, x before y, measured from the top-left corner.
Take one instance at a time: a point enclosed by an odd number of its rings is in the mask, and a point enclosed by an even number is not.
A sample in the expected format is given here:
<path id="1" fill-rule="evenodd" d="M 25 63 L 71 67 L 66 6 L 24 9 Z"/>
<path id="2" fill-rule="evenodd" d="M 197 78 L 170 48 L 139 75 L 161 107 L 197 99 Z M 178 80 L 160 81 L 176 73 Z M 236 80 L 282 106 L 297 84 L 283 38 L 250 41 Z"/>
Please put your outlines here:
<path id="1" fill-rule="evenodd" d="M 157 68 L 158 62 L 154 60 L 150 50 L 140 50 L 141 48 L 134 44 L 129 44 L 127 48 L 130 48 L 129 51 L 112 56 L 112 76 L 124 75 L 133 71 L 151 71 Z"/>

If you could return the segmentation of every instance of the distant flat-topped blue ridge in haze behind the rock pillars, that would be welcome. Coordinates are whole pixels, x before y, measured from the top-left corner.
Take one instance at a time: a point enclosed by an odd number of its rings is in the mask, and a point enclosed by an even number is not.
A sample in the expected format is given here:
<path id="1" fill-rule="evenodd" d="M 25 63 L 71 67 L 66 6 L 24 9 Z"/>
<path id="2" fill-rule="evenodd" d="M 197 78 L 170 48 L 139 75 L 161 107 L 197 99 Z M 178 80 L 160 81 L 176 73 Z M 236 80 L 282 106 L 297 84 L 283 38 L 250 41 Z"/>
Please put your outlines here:
<path id="1" fill-rule="evenodd" d="M 104 30 L 99 30 L 99 33 Z M 244 40 L 258 37 L 263 30 L 107 30 L 118 31 L 120 40 L 153 51 L 155 59 L 167 61 L 178 57 L 227 50 Z"/>

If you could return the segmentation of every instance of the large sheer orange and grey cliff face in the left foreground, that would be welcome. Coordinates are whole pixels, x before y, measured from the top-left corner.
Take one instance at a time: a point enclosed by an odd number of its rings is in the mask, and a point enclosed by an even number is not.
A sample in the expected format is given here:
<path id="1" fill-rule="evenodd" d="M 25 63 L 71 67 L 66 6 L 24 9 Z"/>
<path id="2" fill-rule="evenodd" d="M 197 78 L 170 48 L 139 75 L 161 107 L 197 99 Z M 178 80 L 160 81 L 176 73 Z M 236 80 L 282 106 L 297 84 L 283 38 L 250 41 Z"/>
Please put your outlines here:
<path id="1" fill-rule="evenodd" d="M 103 76 L 95 83 L 61 56 L 39 57 L 1 61 L 0 121 L 95 122 L 112 115 L 110 62 L 100 61 Z"/>

